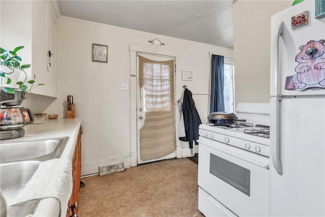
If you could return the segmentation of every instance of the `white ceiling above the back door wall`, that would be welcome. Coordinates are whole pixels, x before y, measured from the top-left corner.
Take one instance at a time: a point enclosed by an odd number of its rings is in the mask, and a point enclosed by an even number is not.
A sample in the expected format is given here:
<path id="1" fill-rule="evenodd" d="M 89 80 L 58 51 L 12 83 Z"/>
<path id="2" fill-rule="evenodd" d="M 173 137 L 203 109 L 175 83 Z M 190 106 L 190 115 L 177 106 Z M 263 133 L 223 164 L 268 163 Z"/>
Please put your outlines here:
<path id="1" fill-rule="evenodd" d="M 233 0 L 59 0 L 63 16 L 233 48 Z"/>

